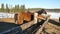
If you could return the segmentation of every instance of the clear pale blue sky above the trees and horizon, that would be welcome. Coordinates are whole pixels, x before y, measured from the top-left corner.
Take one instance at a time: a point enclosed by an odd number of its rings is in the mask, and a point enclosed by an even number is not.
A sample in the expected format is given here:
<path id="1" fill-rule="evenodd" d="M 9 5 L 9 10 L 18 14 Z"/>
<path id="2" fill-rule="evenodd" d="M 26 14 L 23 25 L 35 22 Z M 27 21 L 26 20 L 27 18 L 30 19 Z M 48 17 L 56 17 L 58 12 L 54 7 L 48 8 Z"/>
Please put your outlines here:
<path id="1" fill-rule="evenodd" d="M 19 4 L 26 8 L 60 8 L 60 0 L 0 0 L 0 7 L 2 3 L 10 7 Z"/>

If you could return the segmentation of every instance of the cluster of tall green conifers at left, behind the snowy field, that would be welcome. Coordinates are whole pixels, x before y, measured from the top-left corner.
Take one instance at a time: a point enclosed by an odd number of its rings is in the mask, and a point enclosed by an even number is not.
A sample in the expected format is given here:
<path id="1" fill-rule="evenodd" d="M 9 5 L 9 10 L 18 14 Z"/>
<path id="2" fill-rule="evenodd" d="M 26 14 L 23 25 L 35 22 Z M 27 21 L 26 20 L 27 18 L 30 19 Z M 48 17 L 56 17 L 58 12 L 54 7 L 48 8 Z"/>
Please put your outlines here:
<path id="1" fill-rule="evenodd" d="M 5 8 L 6 7 L 6 8 Z M 7 12 L 7 13 L 11 13 L 11 12 L 24 12 L 25 11 L 25 5 L 15 5 L 14 7 L 8 7 L 8 4 L 6 4 L 6 6 L 4 6 L 4 4 L 1 4 L 1 8 L 0 8 L 0 12 Z"/>

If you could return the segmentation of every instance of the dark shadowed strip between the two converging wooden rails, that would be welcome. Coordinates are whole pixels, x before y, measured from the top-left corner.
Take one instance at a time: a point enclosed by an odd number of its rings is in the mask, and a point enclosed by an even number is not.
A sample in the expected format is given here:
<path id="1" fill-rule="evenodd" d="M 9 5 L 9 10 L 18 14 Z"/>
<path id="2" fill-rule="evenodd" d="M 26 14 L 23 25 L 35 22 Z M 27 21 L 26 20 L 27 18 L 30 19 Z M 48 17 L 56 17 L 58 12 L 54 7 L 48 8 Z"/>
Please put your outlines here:
<path id="1" fill-rule="evenodd" d="M 34 32 L 36 32 L 39 28 L 40 28 L 40 25 L 43 24 L 44 21 L 42 21 L 41 23 L 37 23 L 37 24 L 34 24 L 32 25 L 31 27 L 25 29 L 23 31 L 24 34 L 33 34 Z"/>

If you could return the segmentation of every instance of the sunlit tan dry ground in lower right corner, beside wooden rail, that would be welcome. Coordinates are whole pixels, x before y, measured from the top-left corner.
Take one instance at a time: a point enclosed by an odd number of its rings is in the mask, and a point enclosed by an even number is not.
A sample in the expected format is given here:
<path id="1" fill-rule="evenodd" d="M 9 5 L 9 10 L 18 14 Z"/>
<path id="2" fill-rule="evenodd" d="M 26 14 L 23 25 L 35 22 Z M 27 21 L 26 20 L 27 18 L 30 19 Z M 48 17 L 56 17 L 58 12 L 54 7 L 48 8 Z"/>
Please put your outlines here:
<path id="1" fill-rule="evenodd" d="M 60 34 L 60 26 L 48 22 L 48 24 L 45 26 L 44 31 L 42 31 L 42 34 Z"/>

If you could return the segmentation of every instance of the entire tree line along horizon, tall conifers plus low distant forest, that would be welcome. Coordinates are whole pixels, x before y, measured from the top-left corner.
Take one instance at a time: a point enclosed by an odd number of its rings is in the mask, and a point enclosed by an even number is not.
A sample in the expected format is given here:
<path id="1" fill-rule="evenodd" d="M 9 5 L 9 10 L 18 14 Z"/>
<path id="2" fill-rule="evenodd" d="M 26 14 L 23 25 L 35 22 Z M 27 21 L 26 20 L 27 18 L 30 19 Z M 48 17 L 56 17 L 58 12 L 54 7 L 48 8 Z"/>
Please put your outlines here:
<path id="1" fill-rule="evenodd" d="M 6 8 L 5 8 L 6 7 Z M 15 5 L 14 7 L 9 6 L 8 4 L 6 4 L 6 6 L 4 5 L 4 3 L 1 4 L 1 8 L 0 8 L 0 12 L 7 12 L 7 13 L 16 13 L 16 12 L 24 12 L 24 11 L 30 11 L 30 10 L 41 10 L 43 8 L 25 8 L 25 5 Z M 46 9 L 49 11 L 54 11 L 54 12 L 60 12 L 60 9 Z"/>

